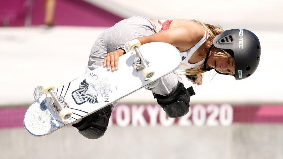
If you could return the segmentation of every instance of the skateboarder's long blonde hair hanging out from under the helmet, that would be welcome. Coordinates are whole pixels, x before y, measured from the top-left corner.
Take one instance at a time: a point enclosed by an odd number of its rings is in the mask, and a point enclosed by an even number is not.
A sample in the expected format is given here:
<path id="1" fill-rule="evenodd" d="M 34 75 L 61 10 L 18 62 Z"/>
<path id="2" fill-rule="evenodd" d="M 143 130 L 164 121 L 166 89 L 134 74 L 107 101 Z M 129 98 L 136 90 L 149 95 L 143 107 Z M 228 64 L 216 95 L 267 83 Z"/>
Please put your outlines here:
<path id="1" fill-rule="evenodd" d="M 205 24 L 202 23 L 201 21 L 198 20 L 191 20 L 199 25 L 201 25 L 205 31 L 206 34 L 208 36 L 208 39 L 206 39 L 205 43 L 204 43 L 204 57 L 206 57 L 206 55 L 208 54 L 208 50 L 211 47 L 211 45 L 213 44 L 213 39 L 215 36 L 219 35 L 220 33 L 222 33 L 224 30 L 220 27 L 220 26 L 214 26 L 211 24 Z M 232 57 L 230 54 L 228 54 L 228 52 L 225 52 L 224 50 L 222 50 L 223 52 L 214 52 L 216 57 Z M 211 51 L 210 51 L 211 52 Z M 190 68 L 190 69 L 186 69 L 184 70 L 184 74 L 182 75 L 190 75 L 190 74 L 196 74 L 197 78 L 196 78 L 196 82 L 201 82 L 202 79 L 202 73 L 206 72 L 204 70 L 202 70 L 202 66 L 197 66 L 194 68 Z M 231 74 L 232 75 L 232 74 Z"/>

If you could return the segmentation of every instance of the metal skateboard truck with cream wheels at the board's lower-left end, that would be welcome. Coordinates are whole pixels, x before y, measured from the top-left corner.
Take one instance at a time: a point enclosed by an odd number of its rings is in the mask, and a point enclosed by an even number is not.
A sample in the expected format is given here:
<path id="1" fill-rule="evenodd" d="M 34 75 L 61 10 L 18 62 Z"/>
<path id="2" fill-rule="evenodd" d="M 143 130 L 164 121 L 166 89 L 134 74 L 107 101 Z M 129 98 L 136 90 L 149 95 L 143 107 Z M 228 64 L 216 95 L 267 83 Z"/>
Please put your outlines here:
<path id="1" fill-rule="evenodd" d="M 46 94 L 50 94 L 51 98 L 53 99 L 54 103 L 52 105 L 55 112 L 59 112 L 60 118 L 64 121 L 67 121 L 72 116 L 72 111 L 68 109 L 69 105 L 65 102 L 64 97 L 57 96 L 53 90 L 54 86 L 51 87 L 43 87 L 43 90 Z"/>

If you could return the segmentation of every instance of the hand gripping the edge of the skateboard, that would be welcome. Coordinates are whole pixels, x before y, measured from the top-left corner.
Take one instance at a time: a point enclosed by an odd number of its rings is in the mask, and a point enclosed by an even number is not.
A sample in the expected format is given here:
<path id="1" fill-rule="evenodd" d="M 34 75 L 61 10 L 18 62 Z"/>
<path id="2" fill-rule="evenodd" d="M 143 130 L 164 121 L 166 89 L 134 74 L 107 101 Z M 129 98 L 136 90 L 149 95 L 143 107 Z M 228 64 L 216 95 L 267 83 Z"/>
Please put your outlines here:
<path id="1" fill-rule="evenodd" d="M 109 52 L 104 58 L 103 67 L 106 67 L 107 71 L 110 71 L 110 67 L 112 72 L 117 71 L 119 57 L 122 56 L 123 54 L 124 51 L 121 49 L 118 49 L 113 52 Z"/>

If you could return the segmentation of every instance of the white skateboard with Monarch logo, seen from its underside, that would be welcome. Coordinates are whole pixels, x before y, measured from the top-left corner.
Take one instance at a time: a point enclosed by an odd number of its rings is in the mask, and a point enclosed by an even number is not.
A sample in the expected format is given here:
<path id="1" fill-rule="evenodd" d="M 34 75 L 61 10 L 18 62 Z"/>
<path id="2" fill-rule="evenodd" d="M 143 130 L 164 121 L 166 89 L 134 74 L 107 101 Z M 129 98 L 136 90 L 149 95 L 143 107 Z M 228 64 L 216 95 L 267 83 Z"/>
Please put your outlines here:
<path id="1" fill-rule="evenodd" d="M 171 44 L 128 43 L 127 53 L 119 57 L 117 71 L 103 66 L 61 87 L 38 86 L 34 102 L 28 107 L 23 125 L 32 136 L 44 136 L 84 118 L 107 105 L 177 70 L 182 61 Z"/>

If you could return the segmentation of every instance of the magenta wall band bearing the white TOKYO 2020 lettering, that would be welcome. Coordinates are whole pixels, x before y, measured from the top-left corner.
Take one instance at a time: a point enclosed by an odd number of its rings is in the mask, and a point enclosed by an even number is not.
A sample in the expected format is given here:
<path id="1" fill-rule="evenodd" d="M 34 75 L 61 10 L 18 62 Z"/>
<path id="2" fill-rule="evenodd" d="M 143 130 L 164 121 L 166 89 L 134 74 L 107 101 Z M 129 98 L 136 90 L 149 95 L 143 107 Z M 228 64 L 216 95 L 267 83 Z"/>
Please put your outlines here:
<path id="1" fill-rule="evenodd" d="M 23 127 L 23 117 L 27 108 L 0 108 L 0 129 Z M 120 104 L 115 107 L 110 122 L 118 126 L 229 126 L 233 123 L 283 123 L 283 105 L 197 104 L 191 105 L 186 116 L 169 119 L 164 116 L 164 111 L 157 104 Z"/>

